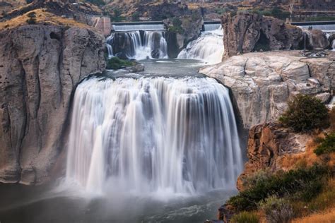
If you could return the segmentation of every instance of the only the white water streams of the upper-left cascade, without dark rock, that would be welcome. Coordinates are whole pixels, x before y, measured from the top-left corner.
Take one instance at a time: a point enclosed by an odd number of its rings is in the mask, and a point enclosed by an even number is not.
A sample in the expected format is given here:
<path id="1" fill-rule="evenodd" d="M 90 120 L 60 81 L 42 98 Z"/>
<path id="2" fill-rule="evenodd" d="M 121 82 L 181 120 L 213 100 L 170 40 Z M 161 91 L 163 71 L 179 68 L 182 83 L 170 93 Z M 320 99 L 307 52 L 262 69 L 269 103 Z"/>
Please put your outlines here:
<path id="1" fill-rule="evenodd" d="M 114 35 L 120 35 L 112 33 L 107 37 L 107 43 L 112 44 L 114 41 Z M 145 31 L 143 40 L 141 38 L 140 31 L 122 32 L 122 35 L 127 39 L 125 42 L 130 42 L 126 56 L 129 59 L 153 59 L 152 52 L 157 51 L 159 59 L 167 59 L 167 42 L 164 37 L 164 32 L 160 31 Z M 115 51 L 113 50 L 115 53 Z"/>

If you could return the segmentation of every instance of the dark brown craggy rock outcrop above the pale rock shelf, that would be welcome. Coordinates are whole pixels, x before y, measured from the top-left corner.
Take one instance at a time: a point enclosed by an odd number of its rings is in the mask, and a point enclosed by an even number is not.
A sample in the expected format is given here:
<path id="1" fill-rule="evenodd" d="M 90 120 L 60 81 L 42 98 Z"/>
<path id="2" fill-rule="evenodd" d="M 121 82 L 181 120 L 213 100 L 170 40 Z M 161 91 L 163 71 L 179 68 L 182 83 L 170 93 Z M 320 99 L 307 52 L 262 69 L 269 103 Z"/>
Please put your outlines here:
<path id="1" fill-rule="evenodd" d="M 303 39 L 302 30 L 282 20 L 238 12 L 225 14 L 221 20 L 224 58 L 254 51 L 298 49 Z"/>

